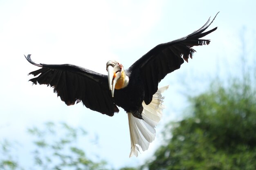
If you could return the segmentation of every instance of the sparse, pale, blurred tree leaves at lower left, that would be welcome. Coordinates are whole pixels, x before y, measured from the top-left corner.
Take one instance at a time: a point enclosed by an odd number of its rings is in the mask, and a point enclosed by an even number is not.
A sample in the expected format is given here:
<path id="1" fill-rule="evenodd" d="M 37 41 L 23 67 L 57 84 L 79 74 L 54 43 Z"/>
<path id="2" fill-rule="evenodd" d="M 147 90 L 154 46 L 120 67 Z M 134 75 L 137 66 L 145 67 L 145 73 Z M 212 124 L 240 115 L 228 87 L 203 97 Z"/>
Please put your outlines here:
<path id="1" fill-rule="evenodd" d="M 106 170 L 106 162 L 94 162 L 79 148 L 79 138 L 86 135 L 83 128 L 73 128 L 65 123 L 48 122 L 43 128 L 29 128 L 34 137 L 31 167 L 22 168 L 18 159 L 13 159 L 13 144 L 4 140 L 1 146 L 0 170 Z M 28 157 L 29 158 L 29 157 Z"/>

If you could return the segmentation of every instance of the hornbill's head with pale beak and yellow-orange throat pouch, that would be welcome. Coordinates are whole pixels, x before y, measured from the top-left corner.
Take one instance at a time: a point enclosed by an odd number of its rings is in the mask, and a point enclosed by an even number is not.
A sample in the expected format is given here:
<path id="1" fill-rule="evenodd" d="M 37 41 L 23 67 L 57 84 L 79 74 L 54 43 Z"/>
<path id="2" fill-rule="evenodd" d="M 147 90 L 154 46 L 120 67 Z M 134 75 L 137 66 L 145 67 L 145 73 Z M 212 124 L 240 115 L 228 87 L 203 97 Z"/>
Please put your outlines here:
<path id="1" fill-rule="evenodd" d="M 114 97 L 115 89 L 125 88 L 128 85 L 129 77 L 126 76 L 123 65 L 117 61 L 108 61 L 107 71 L 109 90 Z"/>

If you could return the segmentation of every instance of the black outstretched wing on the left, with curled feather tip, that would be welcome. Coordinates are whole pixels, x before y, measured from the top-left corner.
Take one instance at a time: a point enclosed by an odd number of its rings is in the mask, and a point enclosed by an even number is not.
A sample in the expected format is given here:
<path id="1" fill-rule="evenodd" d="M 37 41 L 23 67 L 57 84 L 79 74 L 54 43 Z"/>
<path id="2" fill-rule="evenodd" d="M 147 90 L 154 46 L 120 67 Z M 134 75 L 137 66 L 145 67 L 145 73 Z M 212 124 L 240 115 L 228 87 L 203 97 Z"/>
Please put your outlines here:
<path id="1" fill-rule="evenodd" d="M 108 89 L 106 75 L 72 64 L 36 64 L 30 56 L 25 56 L 27 61 L 42 68 L 29 73 L 38 75 L 29 81 L 53 87 L 54 92 L 68 106 L 82 102 L 87 108 L 108 116 L 119 112 Z"/>

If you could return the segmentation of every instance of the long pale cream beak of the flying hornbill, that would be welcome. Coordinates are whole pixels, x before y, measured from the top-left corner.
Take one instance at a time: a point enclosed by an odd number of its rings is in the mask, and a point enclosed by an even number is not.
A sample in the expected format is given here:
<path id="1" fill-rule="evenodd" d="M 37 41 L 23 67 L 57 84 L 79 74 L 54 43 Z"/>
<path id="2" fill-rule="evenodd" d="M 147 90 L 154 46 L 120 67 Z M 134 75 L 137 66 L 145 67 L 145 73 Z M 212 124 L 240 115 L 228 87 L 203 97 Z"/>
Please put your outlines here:
<path id="1" fill-rule="evenodd" d="M 121 77 L 121 72 L 119 71 L 119 67 L 113 66 L 108 66 L 107 71 L 109 90 L 111 91 L 112 97 L 114 97 L 115 85 L 117 80 Z"/>

